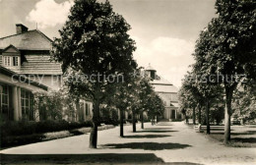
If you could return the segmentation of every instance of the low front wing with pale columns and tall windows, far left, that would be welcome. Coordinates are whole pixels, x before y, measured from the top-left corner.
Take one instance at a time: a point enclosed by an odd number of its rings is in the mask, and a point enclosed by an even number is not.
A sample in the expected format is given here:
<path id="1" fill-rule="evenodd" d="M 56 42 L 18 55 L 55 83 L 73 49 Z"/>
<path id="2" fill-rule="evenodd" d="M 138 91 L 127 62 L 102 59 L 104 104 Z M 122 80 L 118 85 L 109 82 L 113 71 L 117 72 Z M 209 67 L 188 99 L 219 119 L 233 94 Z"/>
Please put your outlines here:
<path id="1" fill-rule="evenodd" d="M 0 113 L 1 119 L 35 120 L 32 91 L 47 91 L 46 85 L 20 77 L 0 66 Z"/>

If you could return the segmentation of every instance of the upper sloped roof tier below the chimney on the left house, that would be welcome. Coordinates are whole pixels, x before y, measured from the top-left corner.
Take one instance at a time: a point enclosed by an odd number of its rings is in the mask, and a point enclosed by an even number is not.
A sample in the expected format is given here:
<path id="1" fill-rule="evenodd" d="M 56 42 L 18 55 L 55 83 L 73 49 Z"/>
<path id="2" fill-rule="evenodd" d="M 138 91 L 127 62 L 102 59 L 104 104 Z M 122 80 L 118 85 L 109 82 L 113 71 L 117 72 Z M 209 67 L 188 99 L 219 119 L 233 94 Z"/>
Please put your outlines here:
<path id="1" fill-rule="evenodd" d="M 19 50 L 50 50 L 52 40 L 38 29 L 0 38 L 0 49 L 10 44 Z"/>

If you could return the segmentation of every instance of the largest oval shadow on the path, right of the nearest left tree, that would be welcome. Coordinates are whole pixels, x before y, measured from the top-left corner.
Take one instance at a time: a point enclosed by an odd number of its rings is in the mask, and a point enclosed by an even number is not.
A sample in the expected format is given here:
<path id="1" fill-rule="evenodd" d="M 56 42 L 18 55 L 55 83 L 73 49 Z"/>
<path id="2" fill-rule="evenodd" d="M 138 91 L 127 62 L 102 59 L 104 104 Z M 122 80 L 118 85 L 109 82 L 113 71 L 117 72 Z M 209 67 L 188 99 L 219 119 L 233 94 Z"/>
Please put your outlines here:
<path id="1" fill-rule="evenodd" d="M 131 148 L 145 150 L 182 149 L 191 145 L 180 143 L 159 143 L 159 142 L 129 142 L 129 143 L 109 143 L 102 146 L 109 148 Z"/>

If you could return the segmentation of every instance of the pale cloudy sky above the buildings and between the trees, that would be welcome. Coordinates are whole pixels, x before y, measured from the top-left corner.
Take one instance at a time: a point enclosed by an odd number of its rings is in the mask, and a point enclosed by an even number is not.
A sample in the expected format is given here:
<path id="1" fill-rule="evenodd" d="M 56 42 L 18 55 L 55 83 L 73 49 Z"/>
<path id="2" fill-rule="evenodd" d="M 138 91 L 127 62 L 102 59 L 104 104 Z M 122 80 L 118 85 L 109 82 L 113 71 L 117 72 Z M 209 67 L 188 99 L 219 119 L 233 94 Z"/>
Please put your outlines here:
<path id="1" fill-rule="evenodd" d="M 160 77 L 181 86 L 194 63 L 200 31 L 216 17 L 215 0 L 109 1 L 132 27 L 129 34 L 136 41 L 134 58 L 139 66 L 151 64 Z M 15 24 L 58 37 L 73 4 L 73 0 L 0 0 L 0 37 L 14 34 Z"/>

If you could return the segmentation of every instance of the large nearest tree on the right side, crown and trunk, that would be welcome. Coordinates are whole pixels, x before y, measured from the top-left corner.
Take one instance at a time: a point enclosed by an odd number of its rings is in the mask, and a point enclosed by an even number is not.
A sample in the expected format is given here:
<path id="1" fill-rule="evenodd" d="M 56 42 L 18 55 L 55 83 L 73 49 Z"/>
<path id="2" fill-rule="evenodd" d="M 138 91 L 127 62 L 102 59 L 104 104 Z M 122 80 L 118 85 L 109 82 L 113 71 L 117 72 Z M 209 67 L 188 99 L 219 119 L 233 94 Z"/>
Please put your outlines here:
<path id="1" fill-rule="evenodd" d="M 217 0 L 218 18 L 203 31 L 201 68 L 216 75 L 224 85 L 224 143 L 230 140 L 230 116 L 233 91 L 244 78 L 256 78 L 256 2 L 255 0 Z"/>

